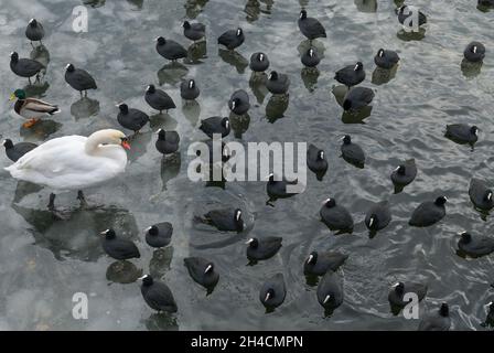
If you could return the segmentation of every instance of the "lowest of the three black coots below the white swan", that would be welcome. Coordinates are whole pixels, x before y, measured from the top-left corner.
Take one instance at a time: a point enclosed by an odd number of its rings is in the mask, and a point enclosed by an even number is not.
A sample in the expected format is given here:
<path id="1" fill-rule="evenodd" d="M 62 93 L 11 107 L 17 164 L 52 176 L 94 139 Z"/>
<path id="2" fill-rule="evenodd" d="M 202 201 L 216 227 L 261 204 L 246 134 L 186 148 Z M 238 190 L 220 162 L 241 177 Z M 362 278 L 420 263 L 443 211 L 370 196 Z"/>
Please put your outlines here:
<path id="1" fill-rule="evenodd" d="M 159 312 L 176 312 L 176 302 L 170 288 L 162 281 L 153 279 L 150 275 L 141 277 L 141 293 L 146 303 Z"/>

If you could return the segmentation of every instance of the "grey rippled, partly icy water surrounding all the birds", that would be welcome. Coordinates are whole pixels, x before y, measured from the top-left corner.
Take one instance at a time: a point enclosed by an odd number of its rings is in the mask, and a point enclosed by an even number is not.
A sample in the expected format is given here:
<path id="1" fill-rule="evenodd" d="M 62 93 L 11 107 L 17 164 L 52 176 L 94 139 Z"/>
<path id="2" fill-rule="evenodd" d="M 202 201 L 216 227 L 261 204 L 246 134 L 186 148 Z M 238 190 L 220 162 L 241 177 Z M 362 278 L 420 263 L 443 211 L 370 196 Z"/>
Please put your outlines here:
<path id="1" fill-rule="evenodd" d="M 455 234 L 492 231 L 491 217 L 482 220 L 473 210 L 468 188 L 472 175 L 488 180 L 492 174 L 494 32 L 488 29 L 494 12 L 479 11 L 474 1 L 466 0 L 415 1 L 428 14 L 429 24 L 425 36 L 410 40 L 398 34 L 395 4 L 377 1 L 376 10 L 375 2 L 103 0 L 87 4 L 89 32 L 80 34 L 72 31 L 72 10 L 80 1 L 4 3 L 0 9 L 2 138 L 41 142 L 118 128 L 117 103 L 151 113 L 143 100 L 144 87 L 151 83 L 165 89 L 179 108 L 164 118 L 152 117 L 152 130 L 147 127 L 132 143 L 124 175 L 86 191 L 95 207 L 77 210 L 74 193 L 57 197 L 60 206 L 71 210 L 69 221 L 53 221 L 46 212 L 50 190 L 18 183 L 0 172 L 0 329 L 415 330 L 418 322 L 393 315 L 387 302 L 388 288 L 398 279 L 428 281 L 421 312 L 447 301 L 453 329 L 482 329 L 484 304 L 494 296 L 493 257 L 457 256 Z M 297 26 L 301 6 L 327 31 L 327 39 L 316 42 L 324 50 L 319 77 L 301 75 L 299 51 L 307 46 Z M 15 50 L 21 57 L 43 54 L 46 58 L 46 52 L 32 53 L 23 34 L 33 17 L 47 32 L 50 65 L 47 84 L 29 92 L 58 104 L 63 111 L 26 131 L 7 103 L 11 92 L 26 85 L 10 72 L 9 53 Z M 183 66 L 167 66 L 153 40 L 165 35 L 189 45 L 182 36 L 185 19 L 207 25 L 207 45 L 196 47 L 195 58 Z M 238 50 L 241 56 L 218 53 L 216 38 L 237 25 L 246 34 Z M 472 40 L 483 42 L 488 51 L 479 75 L 461 69 L 463 49 Z M 382 85 L 377 78 L 372 82 L 373 57 L 379 47 L 397 50 L 401 57 L 395 77 Z M 256 51 L 269 55 L 271 68 L 290 75 L 288 107 L 277 106 L 266 90 L 249 86 L 247 60 Z M 367 72 L 363 85 L 376 90 L 365 119 L 342 116 L 332 94 L 334 72 L 357 60 Z M 99 89 L 89 94 L 92 100 L 79 100 L 78 93 L 65 84 L 68 62 L 96 77 Z M 194 77 L 202 89 L 196 105 L 182 107 L 178 83 L 183 77 Z M 227 140 L 313 142 L 326 151 L 330 162 L 322 182 L 309 174 L 303 194 L 270 207 L 264 182 L 227 183 L 223 190 L 189 181 L 186 148 L 204 140 L 196 129 L 198 119 L 227 115 L 226 101 L 238 88 L 248 90 L 255 105 L 249 119 L 233 121 L 235 133 Z M 445 125 L 454 122 L 480 127 L 474 150 L 443 137 Z M 162 165 L 153 146 L 159 127 L 181 135 L 179 161 Z M 365 149 L 365 169 L 339 158 L 343 133 Z M 0 154 L 1 165 L 9 165 Z M 417 160 L 418 176 L 402 193 L 394 194 L 388 175 L 409 158 Z M 409 227 L 418 203 L 439 194 L 449 197 L 447 217 L 426 229 Z M 321 202 L 330 195 L 352 211 L 356 222 L 352 235 L 332 235 L 319 222 Z M 363 224 L 365 211 L 382 199 L 390 201 L 394 220 L 369 238 Z M 232 236 L 193 224 L 195 214 L 218 205 L 238 205 L 248 212 L 248 231 Z M 159 221 L 173 223 L 172 248 L 153 253 L 143 243 L 142 229 Z M 137 242 L 142 256 L 133 265 L 112 264 L 103 254 L 97 234 L 108 227 Z M 283 246 L 273 258 L 246 266 L 244 242 L 254 235 L 282 236 Z M 345 301 L 331 317 L 324 315 L 315 287 L 308 286 L 302 275 L 302 263 L 314 248 L 350 254 L 341 270 Z M 186 274 L 183 258 L 190 255 L 216 264 L 221 279 L 211 296 Z M 157 315 L 143 302 L 133 280 L 149 271 L 162 276 L 173 290 L 176 315 Z M 278 271 L 284 274 L 288 295 L 280 308 L 266 314 L 258 291 L 264 279 Z M 75 292 L 89 298 L 88 320 L 72 317 Z"/>

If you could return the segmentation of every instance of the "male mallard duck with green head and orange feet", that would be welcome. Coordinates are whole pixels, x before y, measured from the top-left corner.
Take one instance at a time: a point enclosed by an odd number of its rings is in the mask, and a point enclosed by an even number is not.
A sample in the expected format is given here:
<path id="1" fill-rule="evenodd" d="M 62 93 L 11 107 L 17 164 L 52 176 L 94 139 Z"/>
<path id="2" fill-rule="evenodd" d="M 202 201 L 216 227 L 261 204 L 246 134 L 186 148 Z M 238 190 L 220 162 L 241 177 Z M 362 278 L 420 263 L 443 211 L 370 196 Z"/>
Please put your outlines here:
<path id="1" fill-rule="evenodd" d="M 18 98 L 14 105 L 14 110 L 21 117 L 29 119 L 22 126 L 24 128 L 30 128 L 40 120 L 41 117 L 45 115 L 54 115 L 60 113 L 57 106 L 50 103 L 36 99 L 26 98 L 25 92 L 23 89 L 15 89 L 15 92 L 10 96 L 10 100 Z"/>

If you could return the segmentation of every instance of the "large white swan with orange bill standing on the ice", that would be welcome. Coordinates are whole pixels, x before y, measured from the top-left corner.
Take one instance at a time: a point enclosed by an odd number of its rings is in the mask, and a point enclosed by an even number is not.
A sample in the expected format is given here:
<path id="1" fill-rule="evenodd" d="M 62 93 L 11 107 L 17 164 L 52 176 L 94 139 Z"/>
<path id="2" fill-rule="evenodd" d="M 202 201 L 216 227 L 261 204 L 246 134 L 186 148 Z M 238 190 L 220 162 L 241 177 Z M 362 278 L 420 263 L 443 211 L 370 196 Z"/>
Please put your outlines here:
<path id="1" fill-rule="evenodd" d="M 45 185 L 56 191 L 77 190 L 85 203 L 82 189 L 100 184 L 119 173 L 127 165 L 130 149 L 124 132 L 99 130 L 84 136 L 64 136 L 46 141 L 21 157 L 6 170 L 19 180 Z M 55 195 L 50 195 L 54 208 Z"/>

